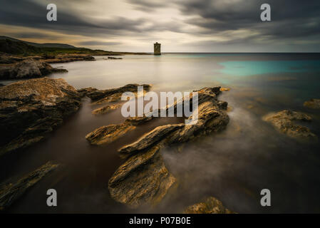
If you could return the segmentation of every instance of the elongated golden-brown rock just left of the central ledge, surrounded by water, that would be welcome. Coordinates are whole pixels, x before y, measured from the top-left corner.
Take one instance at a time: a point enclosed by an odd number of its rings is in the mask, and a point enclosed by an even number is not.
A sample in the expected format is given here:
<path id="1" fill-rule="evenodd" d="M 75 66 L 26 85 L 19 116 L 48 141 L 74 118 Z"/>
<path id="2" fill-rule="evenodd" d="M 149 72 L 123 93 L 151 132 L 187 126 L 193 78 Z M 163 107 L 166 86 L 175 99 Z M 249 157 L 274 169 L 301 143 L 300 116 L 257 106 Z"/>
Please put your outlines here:
<path id="1" fill-rule="evenodd" d="M 86 140 L 88 140 L 91 145 L 101 145 L 105 143 L 113 142 L 118 138 L 128 133 L 128 131 L 135 129 L 135 126 L 128 125 L 125 123 L 118 125 L 108 125 L 93 130 L 93 132 L 86 135 Z"/>

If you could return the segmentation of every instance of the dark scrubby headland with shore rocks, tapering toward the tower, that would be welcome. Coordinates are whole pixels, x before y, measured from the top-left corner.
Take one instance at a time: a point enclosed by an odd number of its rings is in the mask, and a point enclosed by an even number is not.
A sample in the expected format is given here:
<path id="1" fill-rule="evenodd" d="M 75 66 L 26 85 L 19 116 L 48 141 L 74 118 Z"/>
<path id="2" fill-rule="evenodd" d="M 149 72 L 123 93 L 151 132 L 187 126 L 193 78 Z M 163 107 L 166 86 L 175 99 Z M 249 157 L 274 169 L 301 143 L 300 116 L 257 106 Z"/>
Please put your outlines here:
<path id="1" fill-rule="evenodd" d="M 64 43 L 30 43 L 0 36 L 0 80 L 40 78 L 53 72 L 68 72 L 53 68 L 50 63 L 96 61 L 93 56 L 149 55 L 89 48 L 76 48 Z M 108 57 L 108 59 L 121 59 Z"/>

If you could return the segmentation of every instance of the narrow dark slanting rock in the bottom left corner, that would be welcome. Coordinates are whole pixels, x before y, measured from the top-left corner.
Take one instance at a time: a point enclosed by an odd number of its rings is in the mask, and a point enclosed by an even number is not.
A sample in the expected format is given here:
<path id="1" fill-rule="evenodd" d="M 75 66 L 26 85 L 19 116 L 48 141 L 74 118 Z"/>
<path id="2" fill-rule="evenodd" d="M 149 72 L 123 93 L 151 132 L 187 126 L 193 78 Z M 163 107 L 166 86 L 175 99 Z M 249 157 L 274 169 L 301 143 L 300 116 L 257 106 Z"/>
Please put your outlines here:
<path id="1" fill-rule="evenodd" d="M 47 162 L 45 165 L 21 177 L 18 181 L 0 186 L 0 211 L 10 207 L 19 197 L 41 180 L 48 172 L 55 170 L 58 165 Z"/>

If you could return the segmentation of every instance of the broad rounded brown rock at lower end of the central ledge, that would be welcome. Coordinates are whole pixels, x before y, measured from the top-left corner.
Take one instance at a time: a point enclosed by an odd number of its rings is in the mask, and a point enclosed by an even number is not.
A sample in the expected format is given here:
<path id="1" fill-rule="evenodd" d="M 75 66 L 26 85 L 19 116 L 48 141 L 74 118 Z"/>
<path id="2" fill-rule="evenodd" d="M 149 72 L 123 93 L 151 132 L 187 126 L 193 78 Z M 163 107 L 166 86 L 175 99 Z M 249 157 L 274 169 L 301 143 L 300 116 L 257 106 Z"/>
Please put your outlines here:
<path id="1" fill-rule="evenodd" d="M 108 182 L 110 195 L 130 207 L 156 204 L 175 183 L 165 167 L 159 147 L 131 156 Z"/>

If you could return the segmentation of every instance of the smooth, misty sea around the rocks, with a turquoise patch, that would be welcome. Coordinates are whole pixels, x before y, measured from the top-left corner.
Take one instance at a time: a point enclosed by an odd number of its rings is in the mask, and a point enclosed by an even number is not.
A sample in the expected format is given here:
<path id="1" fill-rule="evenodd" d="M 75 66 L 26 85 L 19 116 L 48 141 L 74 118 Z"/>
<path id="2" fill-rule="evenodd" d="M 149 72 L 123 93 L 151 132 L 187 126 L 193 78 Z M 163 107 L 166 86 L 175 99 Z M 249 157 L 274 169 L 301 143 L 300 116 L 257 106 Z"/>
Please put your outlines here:
<path id="1" fill-rule="evenodd" d="M 320 98 L 319 54 L 170 53 L 123 56 L 123 60 L 56 63 L 76 88 L 115 88 L 128 83 L 153 84 L 152 90 L 190 91 L 224 86 L 220 100 L 231 107 L 222 133 L 189 142 L 181 152 L 162 150 L 178 185 L 154 208 L 131 210 L 110 199 L 108 180 L 121 164 L 117 149 L 157 125 L 181 119 L 159 118 L 110 145 L 91 146 L 85 135 L 110 123 L 122 123 L 120 110 L 93 116 L 88 98 L 48 139 L 0 160 L 0 181 L 18 177 L 48 160 L 61 164 L 10 208 L 10 212 L 182 212 L 208 196 L 237 212 L 320 212 L 319 143 L 297 142 L 277 133 L 262 116 L 290 109 L 309 113 L 311 131 L 320 135 L 319 111 L 304 108 Z M 4 81 L 0 83 L 10 83 Z M 58 207 L 46 206 L 46 190 L 58 192 Z M 272 207 L 261 207 L 259 192 L 272 192 Z"/>

